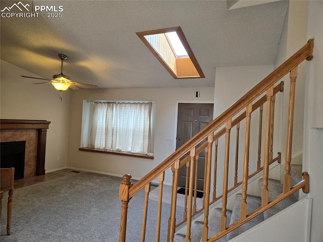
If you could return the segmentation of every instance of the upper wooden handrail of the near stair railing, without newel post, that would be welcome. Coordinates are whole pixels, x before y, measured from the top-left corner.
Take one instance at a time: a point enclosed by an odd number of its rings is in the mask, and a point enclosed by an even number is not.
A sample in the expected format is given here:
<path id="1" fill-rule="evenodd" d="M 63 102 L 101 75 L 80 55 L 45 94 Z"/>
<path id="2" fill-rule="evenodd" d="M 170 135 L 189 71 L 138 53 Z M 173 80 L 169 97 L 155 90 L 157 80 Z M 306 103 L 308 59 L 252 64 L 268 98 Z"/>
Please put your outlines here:
<path id="1" fill-rule="evenodd" d="M 190 151 L 190 149 L 201 140 L 203 140 L 208 134 L 218 129 L 223 125 L 230 117 L 233 117 L 240 112 L 246 105 L 255 100 L 261 93 L 267 90 L 270 86 L 279 81 L 294 67 L 298 66 L 303 60 L 311 60 L 313 56 L 313 39 L 309 39 L 307 43 L 292 57 L 285 61 L 275 71 L 266 76 L 262 81 L 255 85 L 250 91 L 248 91 L 241 99 L 231 105 L 226 111 L 219 115 L 216 119 L 211 121 L 204 129 L 199 131 L 196 135 L 190 138 L 183 146 L 178 148 L 173 154 L 166 158 L 163 162 L 157 165 L 153 170 L 147 173 L 139 181 L 137 181 L 132 187 L 129 188 L 129 199 L 132 198 L 139 190 L 141 190 L 147 183 L 155 179 L 161 172 L 170 168 L 175 161 L 180 159 L 184 154 Z"/>

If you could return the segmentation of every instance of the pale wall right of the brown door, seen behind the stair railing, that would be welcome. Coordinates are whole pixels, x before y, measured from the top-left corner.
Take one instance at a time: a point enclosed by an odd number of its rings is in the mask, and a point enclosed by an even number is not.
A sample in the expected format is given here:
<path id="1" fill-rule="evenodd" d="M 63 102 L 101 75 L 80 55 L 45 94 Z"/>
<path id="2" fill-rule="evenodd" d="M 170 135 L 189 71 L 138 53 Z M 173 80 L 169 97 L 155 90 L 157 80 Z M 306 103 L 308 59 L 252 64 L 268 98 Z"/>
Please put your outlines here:
<path id="1" fill-rule="evenodd" d="M 270 74 L 274 70 L 273 66 L 238 66 L 238 67 L 218 67 L 216 69 L 216 80 L 214 85 L 214 118 L 218 117 L 232 104 L 238 101 L 245 93 L 247 93 L 252 87 L 260 82 L 264 77 Z M 278 111 L 279 113 L 279 111 Z M 265 109 L 263 111 L 265 114 Z M 264 120 L 264 118 L 263 118 Z M 257 127 L 251 130 L 250 143 L 256 141 L 258 143 L 258 123 L 259 113 L 254 112 L 251 116 L 252 127 Z M 256 125 L 256 126 L 253 126 Z M 244 137 L 245 137 L 245 122 L 240 123 L 240 135 L 239 135 L 239 165 L 238 165 L 238 182 L 242 179 L 242 164 L 244 153 Z M 233 186 L 234 171 L 235 171 L 235 143 L 236 143 L 236 127 L 233 127 L 230 135 L 230 155 L 229 155 L 229 186 Z M 262 143 L 263 144 L 263 143 Z M 234 148 L 234 149 L 233 149 Z M 250 169 L 252 173 L 257 162 L 257 149 L 258 146 L 251 146 L 250 148 Z M 277 154 L 279 150 L 276 148 L 274 152 Z M 218 172 L 222 174 L 224 169 L 224 137 L 219 139 L 218 147 Z M 214 153 L 213 153 L 214 154 Z M 262 152 L 263 154 L 263 152 Z M 275 154 L 274 154 L 275 157 Z M 213 170 L 213 168 L 212 168 Z M 211 178 L 213 180 L 213 178 Z M 223 176 L 217 177 L 217 195 L 222 193 Z"/>

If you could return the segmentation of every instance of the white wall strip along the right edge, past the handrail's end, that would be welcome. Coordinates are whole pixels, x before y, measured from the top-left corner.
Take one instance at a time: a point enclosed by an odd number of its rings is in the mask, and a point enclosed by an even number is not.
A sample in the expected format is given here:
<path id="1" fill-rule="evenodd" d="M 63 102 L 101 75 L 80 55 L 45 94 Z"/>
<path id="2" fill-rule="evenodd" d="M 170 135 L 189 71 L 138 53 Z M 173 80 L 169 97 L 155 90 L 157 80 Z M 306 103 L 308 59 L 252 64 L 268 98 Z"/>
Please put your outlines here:
<path id="1" fill-rule="evenodd" d="M 309 1 L 307 38 L 314 38 L 313 59 L 307 62 L 304 113 L 303 170 L 309 173 L 313 199 L 311 241 L 322 241 L 323 231 L 323 1 Z"/>

